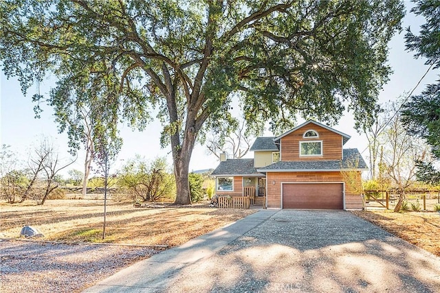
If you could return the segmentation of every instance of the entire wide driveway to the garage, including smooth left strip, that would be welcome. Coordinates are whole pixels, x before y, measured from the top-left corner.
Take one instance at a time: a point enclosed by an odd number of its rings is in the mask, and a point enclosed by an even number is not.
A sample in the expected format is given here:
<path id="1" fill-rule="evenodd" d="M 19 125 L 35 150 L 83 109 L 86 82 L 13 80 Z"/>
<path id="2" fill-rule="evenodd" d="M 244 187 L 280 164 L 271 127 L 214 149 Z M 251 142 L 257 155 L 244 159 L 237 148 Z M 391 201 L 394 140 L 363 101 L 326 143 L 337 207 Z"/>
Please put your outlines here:
<path id="1" fill-rule="evenodd" d="M 440 292 L 440 258 L 347 211 L 259 211 L 85 292 Z"/>

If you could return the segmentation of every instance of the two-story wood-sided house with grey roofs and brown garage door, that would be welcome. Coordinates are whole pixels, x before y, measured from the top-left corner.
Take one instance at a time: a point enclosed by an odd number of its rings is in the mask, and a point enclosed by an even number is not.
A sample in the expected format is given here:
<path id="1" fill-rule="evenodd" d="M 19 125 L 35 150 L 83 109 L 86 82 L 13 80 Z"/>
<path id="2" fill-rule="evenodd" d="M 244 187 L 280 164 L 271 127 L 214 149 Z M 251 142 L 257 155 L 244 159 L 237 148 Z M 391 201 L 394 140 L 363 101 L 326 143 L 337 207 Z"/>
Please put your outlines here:
<path id="1" fill-rule="evenodd" d="M 362 209 L 360 183 L 366 163 L 350 136 L 309 120 L 279 137 L 258 137 L 254 159 L 226 159 L 212 172 L 219 196 L 252 196 L 268 208 Z M 355 174 L 346 182 L 343 172 Z M 353 178 L 353 176 L 351 176 Z"/>

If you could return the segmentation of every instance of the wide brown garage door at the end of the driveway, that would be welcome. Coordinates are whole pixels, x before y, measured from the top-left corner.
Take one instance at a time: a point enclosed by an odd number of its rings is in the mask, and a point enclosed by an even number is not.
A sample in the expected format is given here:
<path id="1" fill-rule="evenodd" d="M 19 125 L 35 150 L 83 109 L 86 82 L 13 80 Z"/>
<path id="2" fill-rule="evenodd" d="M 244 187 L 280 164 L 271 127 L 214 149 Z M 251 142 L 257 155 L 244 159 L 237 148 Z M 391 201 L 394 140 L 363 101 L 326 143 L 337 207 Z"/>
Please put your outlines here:
<path id="1" fill-rule="evenodd" d="M 342 183 L 283 184 L 283 209 L 344 209 Z"/>

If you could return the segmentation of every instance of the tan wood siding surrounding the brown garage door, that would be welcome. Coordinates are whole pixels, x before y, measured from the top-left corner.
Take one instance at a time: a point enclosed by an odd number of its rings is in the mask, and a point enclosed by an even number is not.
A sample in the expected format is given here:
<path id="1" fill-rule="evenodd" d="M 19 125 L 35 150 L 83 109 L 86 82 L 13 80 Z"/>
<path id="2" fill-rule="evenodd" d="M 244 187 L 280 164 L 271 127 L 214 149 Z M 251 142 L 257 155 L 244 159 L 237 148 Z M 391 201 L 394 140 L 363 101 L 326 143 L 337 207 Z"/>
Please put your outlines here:
<path id="1" fill-rule="evenodd" d="M 267 207 L 281 208 L 281 183 L 295 182 L 340 183 L 344 182 L 344 178 L 340 172 L 268 172 Z M 345 209 L 362 209 L 363 204 L 361 195 L 354 194 L 352 189 L 347 184 L 344 185 L 344 189 Z"/>

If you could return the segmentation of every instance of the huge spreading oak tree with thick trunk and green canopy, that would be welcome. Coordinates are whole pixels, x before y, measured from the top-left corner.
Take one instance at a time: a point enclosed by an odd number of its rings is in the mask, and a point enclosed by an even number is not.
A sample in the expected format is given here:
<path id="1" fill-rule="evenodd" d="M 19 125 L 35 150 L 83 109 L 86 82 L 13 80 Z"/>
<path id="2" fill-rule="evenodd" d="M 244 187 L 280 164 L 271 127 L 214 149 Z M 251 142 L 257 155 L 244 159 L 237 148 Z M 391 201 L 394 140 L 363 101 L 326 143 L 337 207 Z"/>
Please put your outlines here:
<path id="1" fill-rule="evenodd" d="M 55 90 L 50 103 L 104 98 L 113 122 L 100 127 L 142 128 L 158 111 L 177 204 L 190 202 L 197 138 L 229 124 L 232 99 L 255 133 L 292 126 L 298 113 L 332 123 L 346 107 L 358 126 L 371 120 L 404 13 L 398 0 L 6 0 L 0 9 L 1 66 L 24 91 L 56 75 L 70 93 Z"/>

